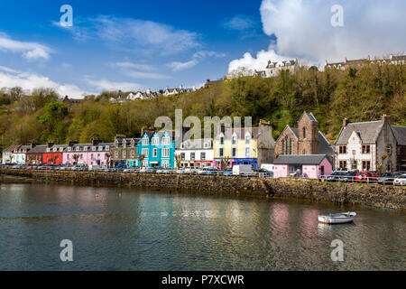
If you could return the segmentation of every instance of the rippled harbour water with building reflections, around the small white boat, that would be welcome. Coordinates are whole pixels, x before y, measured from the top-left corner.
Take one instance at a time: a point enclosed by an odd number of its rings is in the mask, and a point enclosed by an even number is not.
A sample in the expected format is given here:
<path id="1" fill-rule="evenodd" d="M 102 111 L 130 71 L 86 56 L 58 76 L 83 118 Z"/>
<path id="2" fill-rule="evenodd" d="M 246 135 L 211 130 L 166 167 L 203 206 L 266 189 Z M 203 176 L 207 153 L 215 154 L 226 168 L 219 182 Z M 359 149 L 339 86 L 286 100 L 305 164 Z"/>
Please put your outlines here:
<path id="1" fill-rule="evenodd" d="M 353 224 L 318 224 L 346 210 Z M 405 221 L 298 200 L 0 183 L 0 270 L 404 270 Z M 63 239 L 72 262 L 60 260 Z"/>

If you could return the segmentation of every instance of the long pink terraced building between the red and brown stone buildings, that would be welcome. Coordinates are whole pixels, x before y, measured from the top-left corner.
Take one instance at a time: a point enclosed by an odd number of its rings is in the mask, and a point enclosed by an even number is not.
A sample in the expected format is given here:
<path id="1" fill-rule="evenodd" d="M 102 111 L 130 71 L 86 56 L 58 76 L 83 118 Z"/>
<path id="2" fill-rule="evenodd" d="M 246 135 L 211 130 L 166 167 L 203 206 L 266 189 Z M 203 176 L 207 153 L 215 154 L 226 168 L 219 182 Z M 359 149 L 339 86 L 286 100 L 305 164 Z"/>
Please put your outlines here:
<path id="1" fill-rule="evenodd" d="M 113 143 L 98 143 L 94 141 L 92 144 L 76 144 L 69 142 L 62 156 L 63 164 L 84 164 L 84 165 L 101 165 L 107 166 L 107 162 L 111 157 L 110 148 Z M 75 160 L 75 154 L 78 155 L 78 161 Z"/>

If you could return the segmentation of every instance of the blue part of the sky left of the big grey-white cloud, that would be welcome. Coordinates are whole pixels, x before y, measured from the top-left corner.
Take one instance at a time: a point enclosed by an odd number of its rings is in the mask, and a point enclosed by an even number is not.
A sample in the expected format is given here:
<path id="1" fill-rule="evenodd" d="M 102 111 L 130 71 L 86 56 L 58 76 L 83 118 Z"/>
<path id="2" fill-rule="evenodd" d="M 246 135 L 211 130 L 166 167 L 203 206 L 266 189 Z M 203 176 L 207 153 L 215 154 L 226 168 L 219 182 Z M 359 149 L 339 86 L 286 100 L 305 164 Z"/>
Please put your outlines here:
<path id="1" fill-rule="evenodd" d="M 73 8 L 72 27 L 60 27 L 64 4 Z M 12 43 L 0 42 L 0 65 L 3 73 L 37 76 L 38 85 L 48 78 L 70 94 L 198 86 L 223 77 L 228 63 L 245 51 L 268 46 L 272 37 L 262 32 L 260 5 L 260 0 L 3 2 L 0 38 Z"/>

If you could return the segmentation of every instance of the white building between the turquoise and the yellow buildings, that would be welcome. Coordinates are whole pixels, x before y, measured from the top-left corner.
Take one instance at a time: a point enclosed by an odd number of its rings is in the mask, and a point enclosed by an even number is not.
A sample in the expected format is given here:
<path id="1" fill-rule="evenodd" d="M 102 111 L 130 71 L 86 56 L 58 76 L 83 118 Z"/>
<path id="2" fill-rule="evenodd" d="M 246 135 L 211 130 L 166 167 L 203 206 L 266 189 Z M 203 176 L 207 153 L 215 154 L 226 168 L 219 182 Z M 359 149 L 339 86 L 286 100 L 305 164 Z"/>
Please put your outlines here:
<path id="1" fill-rule="evenodd" d="M 214 159 L 212 139 L 187 140 L 176 148 L 175 155 L 181 156 L 181 167 L 209 167 Z M 175 161 L 176 164 L 176 161 Z"/>

